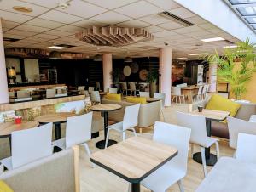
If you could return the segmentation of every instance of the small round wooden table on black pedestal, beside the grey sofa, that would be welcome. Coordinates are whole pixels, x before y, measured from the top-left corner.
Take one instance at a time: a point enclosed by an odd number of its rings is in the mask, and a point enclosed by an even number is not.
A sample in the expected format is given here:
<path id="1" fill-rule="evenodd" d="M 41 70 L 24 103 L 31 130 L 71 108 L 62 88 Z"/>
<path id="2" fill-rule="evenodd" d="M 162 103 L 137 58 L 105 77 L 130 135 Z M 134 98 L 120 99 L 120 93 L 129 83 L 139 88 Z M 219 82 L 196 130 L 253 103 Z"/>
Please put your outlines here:
<path id="1" fill-rule="evenodd" d="M 104 140 L 98 141 L 96 147 L 99 149 L 105 148 L 107 132 L 108 132 L 108 111 L 119 110 L 122 106 L 119 104 L 97 104 L 93 105 L 90 110 L 102 112 L 104 116 Z M 108 146 L 116 144 L 117 142 L 111 139 L 108 139 Z"/>

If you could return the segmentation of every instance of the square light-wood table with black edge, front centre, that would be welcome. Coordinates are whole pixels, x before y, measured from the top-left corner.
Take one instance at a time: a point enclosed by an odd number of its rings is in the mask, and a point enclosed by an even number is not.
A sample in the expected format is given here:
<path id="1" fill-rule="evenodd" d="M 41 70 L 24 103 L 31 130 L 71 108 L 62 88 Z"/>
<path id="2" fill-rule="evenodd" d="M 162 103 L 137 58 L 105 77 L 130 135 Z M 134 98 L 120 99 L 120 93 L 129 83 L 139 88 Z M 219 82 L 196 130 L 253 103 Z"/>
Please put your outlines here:
<path id="1" fill-rule="evenodd" d="M 132 137 L 96 151 L 90 161 L 130 182 L 131 192 L 139 192 L 140 182 L 176 155 L 177 149 L 170 145 Z"/>

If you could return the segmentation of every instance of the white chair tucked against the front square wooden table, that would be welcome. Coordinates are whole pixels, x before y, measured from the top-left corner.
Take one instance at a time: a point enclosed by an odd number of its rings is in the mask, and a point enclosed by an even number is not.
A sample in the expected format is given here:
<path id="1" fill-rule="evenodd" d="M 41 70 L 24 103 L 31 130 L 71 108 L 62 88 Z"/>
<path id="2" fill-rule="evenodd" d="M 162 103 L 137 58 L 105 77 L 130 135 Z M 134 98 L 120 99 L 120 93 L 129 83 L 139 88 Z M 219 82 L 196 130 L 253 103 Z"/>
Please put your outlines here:
<path id="1" fill-rule="evenodd" d="M 144 178 L 141 184 L 152 191 L 167 191 L 172 184 L 177 183 L 183 192 L 182 179 L 187 174 L 189 138 L 191 130 L 186 127 L 156 121 L 153 140 L 171 145 L 177 149 L 177 155 L 165 165 Z"/>

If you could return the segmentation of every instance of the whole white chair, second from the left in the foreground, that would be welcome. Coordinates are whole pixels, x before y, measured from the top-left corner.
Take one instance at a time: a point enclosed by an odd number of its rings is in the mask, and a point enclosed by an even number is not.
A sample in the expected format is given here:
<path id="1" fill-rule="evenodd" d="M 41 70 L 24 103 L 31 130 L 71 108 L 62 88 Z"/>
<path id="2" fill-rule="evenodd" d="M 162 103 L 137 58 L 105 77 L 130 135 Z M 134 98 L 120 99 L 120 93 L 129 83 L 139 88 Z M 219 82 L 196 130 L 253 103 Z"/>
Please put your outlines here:
<path id="1" fill-rule="evenodd" d="M 90 149 L 86 142 L 91 139 L 91 123 L 92 112 L 81 116 L 67 117 L 66 138 L 55 140 L 52 143 L 53 146 L 66 150 L 79 144 L 84 146 L 84 149 L 90 156 Z"/>

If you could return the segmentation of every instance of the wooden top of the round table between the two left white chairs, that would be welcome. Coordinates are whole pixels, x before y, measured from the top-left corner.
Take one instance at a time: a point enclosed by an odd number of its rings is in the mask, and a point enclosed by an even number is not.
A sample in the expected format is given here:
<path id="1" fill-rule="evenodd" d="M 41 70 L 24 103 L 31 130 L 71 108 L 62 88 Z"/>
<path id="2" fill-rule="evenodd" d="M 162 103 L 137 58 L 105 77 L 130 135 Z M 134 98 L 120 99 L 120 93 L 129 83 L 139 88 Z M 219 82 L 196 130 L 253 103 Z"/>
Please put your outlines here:
<path id="1" fill-rule="evenodd" d="M 44 116 L 37 116 L 35 118 L 35 121 L 38 121 L 40 123 L 48 123 L 48 122 L 65 122 L 67 121 L 67 117 L 70 116 L 76 116 L 74 113 L 53 113 L 53 114 L 47 114 Z"/>

